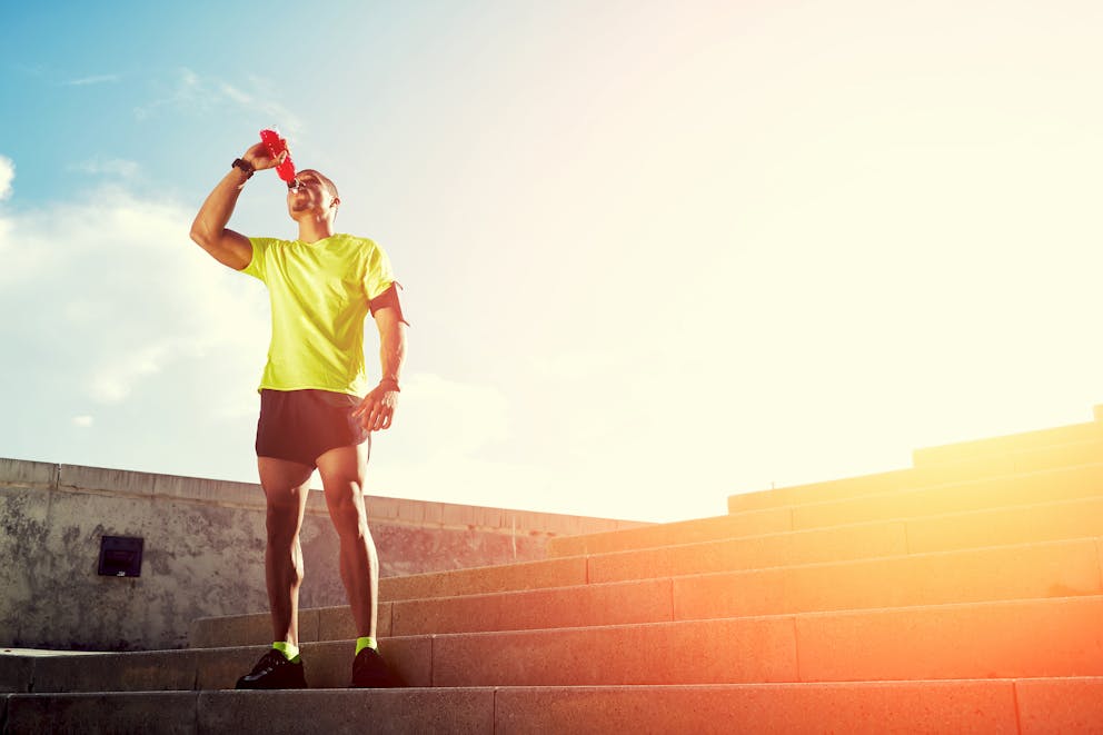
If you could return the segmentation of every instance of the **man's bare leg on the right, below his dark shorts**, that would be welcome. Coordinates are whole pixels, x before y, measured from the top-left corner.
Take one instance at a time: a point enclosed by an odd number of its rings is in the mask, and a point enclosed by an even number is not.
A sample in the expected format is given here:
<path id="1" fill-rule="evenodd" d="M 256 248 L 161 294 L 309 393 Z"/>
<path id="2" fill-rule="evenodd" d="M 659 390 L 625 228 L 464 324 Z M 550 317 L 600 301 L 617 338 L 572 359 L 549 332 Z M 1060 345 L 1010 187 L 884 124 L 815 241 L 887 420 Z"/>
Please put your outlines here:
<path id="1" fill-rule="evenodd" d="M 340 538 L 340 569 L 358 637 L 376 635 L 379 557 L 364 508 L 366 445 L 338 447 L 318 457 L 326 505 Z"/>

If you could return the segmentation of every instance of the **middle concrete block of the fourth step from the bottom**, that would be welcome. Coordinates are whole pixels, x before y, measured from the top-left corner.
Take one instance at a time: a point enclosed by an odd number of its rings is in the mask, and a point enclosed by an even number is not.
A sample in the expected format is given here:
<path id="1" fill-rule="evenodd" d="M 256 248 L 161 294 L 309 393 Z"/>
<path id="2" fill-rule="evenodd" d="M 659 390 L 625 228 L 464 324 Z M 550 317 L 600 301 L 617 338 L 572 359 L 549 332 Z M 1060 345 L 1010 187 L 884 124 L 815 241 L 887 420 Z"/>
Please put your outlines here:
<path id="1" fill-rule="evenodd" d="M 903 524 L 867 524 L 771 534 L 589 557 L 589 580 L 619 582 L 761 569 L 905 553 Z"/>

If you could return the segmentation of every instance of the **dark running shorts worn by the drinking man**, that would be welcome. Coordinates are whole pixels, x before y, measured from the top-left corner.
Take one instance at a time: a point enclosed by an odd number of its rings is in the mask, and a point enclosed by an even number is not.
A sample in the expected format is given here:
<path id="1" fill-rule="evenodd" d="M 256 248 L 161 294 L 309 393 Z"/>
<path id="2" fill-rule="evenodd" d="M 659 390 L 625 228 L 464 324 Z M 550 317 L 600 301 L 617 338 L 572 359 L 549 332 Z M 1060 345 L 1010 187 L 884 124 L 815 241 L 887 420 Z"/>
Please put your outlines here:
<path id="1" fill-rule="evenodd" d="M 261 390 L 257 456 L 314 467 L 337 447 L 367 441 L 370 451 L 371 433 L 352 418 L 359 404 L 356 396 L 328 390 Z"/>

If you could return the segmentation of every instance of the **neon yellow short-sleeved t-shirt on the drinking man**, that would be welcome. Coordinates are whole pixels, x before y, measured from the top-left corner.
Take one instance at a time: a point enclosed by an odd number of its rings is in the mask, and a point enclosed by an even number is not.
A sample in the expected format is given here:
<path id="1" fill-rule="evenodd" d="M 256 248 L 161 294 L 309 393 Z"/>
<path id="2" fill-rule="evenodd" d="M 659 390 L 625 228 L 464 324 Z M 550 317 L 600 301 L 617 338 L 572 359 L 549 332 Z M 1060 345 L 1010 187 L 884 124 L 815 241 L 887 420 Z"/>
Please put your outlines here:
<path id="1" fill-rule="evenodd" d="M 368 301 L 395 280 L 387 254 L 351 235 L 249 241 L 252 260 L 241 272 L 265 282 L 272 311 L 260 389 L 365 395 L 364 318 Z"/>

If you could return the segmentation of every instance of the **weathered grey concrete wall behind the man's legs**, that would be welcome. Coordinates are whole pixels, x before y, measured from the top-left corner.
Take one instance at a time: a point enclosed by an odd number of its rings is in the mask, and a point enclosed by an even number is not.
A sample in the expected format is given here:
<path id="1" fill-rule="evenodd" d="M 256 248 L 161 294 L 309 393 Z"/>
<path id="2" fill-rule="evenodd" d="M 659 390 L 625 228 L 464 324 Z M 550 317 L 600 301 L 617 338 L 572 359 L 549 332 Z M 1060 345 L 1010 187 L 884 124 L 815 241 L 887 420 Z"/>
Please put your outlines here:
<path id="1" fill-rule="evenodd" d="M 381 576 L 544 558 L 548 538 L 643 524 L 368 497 Z M 187 645 L 191 620 L 266 610 L 259 485 L 0 458 L 0 646 Z M 139 577 L 98 575 L 101 536 L 145 539 Z M 346 604 L 321 493 L 300 604 Z"/>

